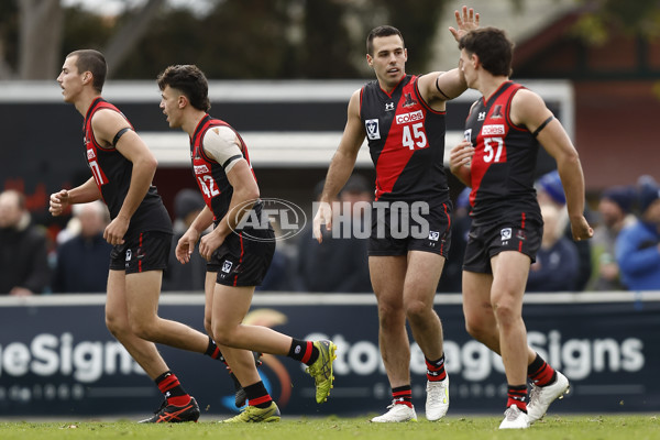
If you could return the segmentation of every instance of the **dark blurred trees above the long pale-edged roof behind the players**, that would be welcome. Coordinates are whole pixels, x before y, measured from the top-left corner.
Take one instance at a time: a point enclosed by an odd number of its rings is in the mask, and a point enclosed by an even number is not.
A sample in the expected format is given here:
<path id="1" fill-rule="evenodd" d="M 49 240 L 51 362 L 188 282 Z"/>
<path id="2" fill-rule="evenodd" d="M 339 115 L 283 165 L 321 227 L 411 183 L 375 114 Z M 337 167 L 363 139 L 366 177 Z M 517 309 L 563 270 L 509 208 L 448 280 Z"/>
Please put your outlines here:
<path id="1" fill-rule="evenodd" d="M 148 0 L 101 16 L 59 0 L 0 2 L 0 79 L 52 79 L 80 47 L 105 53 L 109 78 L 153 78 L 172 63 L 195 63 L 215 79 L 370 77 L 367 32 L 402 30 L 410 72 L 422 72 L 446 1 L 216 0 L 202 13 Z"/>

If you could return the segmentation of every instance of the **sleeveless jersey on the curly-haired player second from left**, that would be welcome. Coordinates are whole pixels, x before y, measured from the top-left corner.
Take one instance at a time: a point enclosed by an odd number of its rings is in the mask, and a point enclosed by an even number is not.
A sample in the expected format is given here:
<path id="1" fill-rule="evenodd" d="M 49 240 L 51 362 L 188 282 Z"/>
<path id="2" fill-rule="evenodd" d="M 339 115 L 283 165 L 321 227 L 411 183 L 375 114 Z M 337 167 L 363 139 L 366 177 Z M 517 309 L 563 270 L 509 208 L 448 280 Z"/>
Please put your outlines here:
<path id="1" fill-rule="evenodd" d="M 242 157 L 248 162 L 248 165 L 250 165 L 250 169 L 252 169 L 252 164 L 250 164 L 248 145 L 245 145 L 245 142 L 243 142 L 241 135 L 230 124 L 220 119 L 213 119 L 209 114 L 206 114 L 201 121 L 199 121 L 193 138 L 190 138 L 190 160 L 193 161 L 193 175 L 197 182 L 197 185 L 199 186 L 199 190 L 204 196 L 206 205 L 213 212 L 213 221 L 217 222 L 220 221 L 229 211 L 229 205 L 233 195 L 233 187 L 227 178 L 224 167 L 229 165 L 232 160 L 235 160 L 235 157 L 230 157 L 224 164 L 220 164 L 205 153 L 202 144 L 204 136 L 207 131 L 213 127 L 228 127 L 231 129 L 239 139 Z M 253 169 L 252 176 L 256 180 Z M 253 210 L 257 215 L 257 219 L 261 219 L 262 205 L 263 202 L 260 200 L 253 207 Z"/>

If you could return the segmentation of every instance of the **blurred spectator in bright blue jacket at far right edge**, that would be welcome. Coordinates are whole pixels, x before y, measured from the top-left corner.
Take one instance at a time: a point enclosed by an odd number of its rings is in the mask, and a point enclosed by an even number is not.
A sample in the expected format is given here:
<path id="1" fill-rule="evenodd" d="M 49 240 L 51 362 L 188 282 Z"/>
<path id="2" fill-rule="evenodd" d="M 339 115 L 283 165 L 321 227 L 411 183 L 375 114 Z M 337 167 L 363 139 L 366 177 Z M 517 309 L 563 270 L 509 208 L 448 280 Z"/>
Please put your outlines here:
<path id="1" fill-rule="evenodd" d="M 616 261 L 630 290 L 660 289 L 660 186 L 650 176 L 639 180 L 639 221 L 622 230 Z"/>

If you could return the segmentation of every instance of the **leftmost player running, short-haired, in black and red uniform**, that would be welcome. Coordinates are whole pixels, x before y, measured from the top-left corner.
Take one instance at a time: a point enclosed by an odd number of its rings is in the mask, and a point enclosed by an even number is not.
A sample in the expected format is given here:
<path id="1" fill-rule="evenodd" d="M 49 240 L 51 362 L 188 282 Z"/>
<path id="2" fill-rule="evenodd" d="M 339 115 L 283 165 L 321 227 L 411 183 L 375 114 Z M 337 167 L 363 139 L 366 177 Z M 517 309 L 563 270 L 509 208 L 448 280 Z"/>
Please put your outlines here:
<path id="1" fill-rule="evenodd" d="M 57 82 L 66 102 L 85 118 L 85 154 L 92 177 L 51 196 L 50 211 L 102 199 L 112 221 L 103 238 L 110 254 L 106 324 L 155 381 L 165 400 L 145 422 L 197 421 L 199 406 L 180 385 L 154 342 L 221 359 L 206 334 L 157 315 L 163 270 L 172 242 L 172 221 L 152 179 L 156 160 L 129 120 L 101 97 L 107 65 L 97 51 L 67 55 Z"/>

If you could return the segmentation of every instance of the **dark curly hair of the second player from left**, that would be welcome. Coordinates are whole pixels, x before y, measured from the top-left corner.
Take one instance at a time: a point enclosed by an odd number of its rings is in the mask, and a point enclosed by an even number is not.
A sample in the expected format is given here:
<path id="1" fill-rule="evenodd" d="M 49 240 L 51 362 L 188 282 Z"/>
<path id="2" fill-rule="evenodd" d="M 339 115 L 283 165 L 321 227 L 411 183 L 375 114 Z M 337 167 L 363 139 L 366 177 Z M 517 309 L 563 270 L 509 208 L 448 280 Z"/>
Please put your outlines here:
<path id="1" fill-rule="evenodd" d="M 194 64 L 168 66 L 158 75 L 157 81 L 161 90 L 167 86 L 180 90 L 197 110 L 210 110 L 209 82 Z"/>

